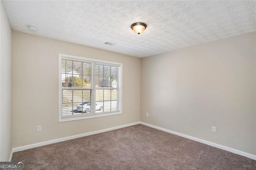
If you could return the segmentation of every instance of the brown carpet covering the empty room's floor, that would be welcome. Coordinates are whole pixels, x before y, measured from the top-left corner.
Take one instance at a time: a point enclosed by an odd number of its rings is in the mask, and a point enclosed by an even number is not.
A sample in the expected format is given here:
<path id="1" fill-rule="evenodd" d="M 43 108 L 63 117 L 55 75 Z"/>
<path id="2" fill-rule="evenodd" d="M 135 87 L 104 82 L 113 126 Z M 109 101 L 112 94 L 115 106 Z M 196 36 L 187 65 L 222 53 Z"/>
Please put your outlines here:
<path id="1" fill-rule="evenodd" d="M 14 152 L 12 161 L 26 170 L 256 170 L 256 160 L 144 125 Z"/>

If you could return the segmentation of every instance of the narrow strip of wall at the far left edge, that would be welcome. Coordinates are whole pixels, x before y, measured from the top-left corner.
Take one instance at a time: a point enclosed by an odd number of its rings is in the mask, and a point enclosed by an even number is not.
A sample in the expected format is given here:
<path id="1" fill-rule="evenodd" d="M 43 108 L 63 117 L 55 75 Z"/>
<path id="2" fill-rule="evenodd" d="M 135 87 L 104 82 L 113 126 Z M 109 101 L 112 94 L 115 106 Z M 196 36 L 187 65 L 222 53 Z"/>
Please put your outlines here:
<path id="1" fill-rule="evenodd" d="M 0 161 L 9 161 L 12 150 L 12 28 L 0 0 Z"/>

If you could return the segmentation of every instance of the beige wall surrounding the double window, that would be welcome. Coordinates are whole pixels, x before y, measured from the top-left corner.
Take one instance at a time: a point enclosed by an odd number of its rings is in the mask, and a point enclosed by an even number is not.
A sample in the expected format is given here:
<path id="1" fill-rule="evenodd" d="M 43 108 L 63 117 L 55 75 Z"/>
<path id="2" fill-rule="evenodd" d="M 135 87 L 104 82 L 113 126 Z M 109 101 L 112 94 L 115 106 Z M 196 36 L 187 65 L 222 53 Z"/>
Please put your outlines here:
<path id="1" fill-rule="evenodd" d="M 13 147 L 140 121 L 139 58 L 19 32 L 12 37 Z M 58 123 L 59 53 L 123 63 L 122 114 Z"/>

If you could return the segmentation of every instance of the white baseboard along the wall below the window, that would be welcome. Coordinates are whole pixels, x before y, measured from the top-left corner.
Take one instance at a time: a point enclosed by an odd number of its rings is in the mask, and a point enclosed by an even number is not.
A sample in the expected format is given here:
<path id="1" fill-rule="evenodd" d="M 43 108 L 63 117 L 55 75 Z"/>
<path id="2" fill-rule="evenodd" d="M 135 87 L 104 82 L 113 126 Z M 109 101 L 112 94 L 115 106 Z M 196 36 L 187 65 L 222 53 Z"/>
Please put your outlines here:
<path id="1" fill-rule="evenodd" d="M 17 148 L 12 148 L 12 152 L 18 152 L 18 151 L 22 151 L 22 150 L 26 150 L 26 149 L 30 149 L 30 148 L 36 148 L 36 147 L 39 147 L 39 146 L 44 146 L 44 145 L 47 145 L 47 144 L 62 142 L 62 141 L 65 141 L 65 140 L 80 138 L 80 137 L 89 136 L 89 135 L 92 135 L 92 134 L 98 134 L 98 133 L 102 133 L 102 132 L 108 132 L 108 131 L 111 131 L 111 130 L 124 128 L 124 127 L 130 127 L 130 126 L 138 125 L 138 124 L 140 124 L 140 122 L 129 123 L 129 124 L 126 124 L 126 125 L 121 125 L 121 126 L 112 127 L 112 128 L 105 128 L 105 129 L 102 129 L 102 130 L 96 130 L 96 131 L 93 131 L 93 132 L 77 134 L 77 135 L 74 135 L 74 136 L 68 136 L 68 137 L 64 137 L 64 138 L 48 140 L 48 141 L 39 142 L 39 143 L 35 143 L 35 144 L 29 144 L 29 145 L 20 146 L 20 147 L 17 147 Z M 11 153 L 11 155 L 12 155 L 12 153 Z M 11 159 L 11 157 L 10 157 L 10 159 Z"/>

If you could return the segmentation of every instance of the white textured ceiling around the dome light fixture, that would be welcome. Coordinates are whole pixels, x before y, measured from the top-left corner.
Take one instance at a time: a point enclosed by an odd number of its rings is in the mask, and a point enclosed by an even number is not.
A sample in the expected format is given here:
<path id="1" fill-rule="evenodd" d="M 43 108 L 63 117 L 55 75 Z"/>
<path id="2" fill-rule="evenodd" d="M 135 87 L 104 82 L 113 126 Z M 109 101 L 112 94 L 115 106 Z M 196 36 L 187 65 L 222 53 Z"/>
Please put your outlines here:
<path id="1" fill-rule="evenodd" d="M 4 0 L 4 6 L 14 31 L 136 57 L 256 31 L 255 0 Z M 134 22 L 148 27 L 137 35 L 130 28 Z"/>

